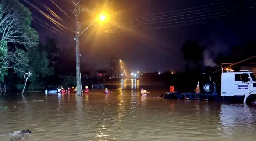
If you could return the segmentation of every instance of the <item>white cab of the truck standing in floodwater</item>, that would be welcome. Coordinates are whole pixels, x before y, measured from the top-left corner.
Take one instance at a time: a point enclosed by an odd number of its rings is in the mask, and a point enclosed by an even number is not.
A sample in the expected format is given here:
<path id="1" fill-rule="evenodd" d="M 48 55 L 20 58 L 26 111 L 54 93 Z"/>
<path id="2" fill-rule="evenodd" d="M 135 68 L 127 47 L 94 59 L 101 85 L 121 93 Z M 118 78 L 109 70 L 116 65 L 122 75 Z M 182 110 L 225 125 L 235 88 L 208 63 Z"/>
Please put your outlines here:
<path id="1" fill-rule="evenodd" d="M 249 70 L 221 74 L 220 96 L 244 96 L 244 103 L 256 104 L 256 77 Z"/>

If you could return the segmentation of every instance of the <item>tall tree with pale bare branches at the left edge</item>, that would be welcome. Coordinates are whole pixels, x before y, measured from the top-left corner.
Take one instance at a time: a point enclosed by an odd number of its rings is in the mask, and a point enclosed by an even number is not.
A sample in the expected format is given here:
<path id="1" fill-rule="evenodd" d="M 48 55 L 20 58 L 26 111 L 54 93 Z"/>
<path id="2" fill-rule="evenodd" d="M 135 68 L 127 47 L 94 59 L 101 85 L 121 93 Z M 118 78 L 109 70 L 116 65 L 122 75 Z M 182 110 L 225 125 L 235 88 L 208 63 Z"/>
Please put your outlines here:
<path id="1" fill-rule="evenodd" d="M 30 27 L 30 18 L 30 11 L 18 0 L 0 0 L 0 77 L 2 78 L 2 73 L 8 68 L 12 68 L 18 75 L 24 75 L 24 78 L 27 77 L 26 82 L 32 74 L 27 71 L 28 53 L 16 46 L 20 45 L 28 49 L 38 43 L 38 35 Z M 15 45 L 15 48 L 8 48 L 8 43 Z"/>

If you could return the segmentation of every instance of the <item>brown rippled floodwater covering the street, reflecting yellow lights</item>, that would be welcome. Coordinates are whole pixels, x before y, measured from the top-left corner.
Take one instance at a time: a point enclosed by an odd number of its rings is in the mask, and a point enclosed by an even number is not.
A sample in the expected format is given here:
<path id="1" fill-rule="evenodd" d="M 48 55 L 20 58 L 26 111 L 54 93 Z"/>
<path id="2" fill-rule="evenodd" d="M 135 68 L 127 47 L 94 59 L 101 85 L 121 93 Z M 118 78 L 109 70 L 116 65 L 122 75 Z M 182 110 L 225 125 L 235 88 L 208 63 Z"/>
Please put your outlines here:
<path id="1" fill-rule="evenodd" d="M 136 86 L 135 86 L 136 84 Z M 0 134 L 32 131 L 27 141 L 254 141 L 256 107 L 154 99 L 167 89 L 123 83 L 113 94 L 29 94 L 4 99 Z M 41 100 L 41 101 L 33 101 Z M 43 100 L 43 101 L 42 101 Z M 12 136 L 1 136 L 9 141 Z"/>

